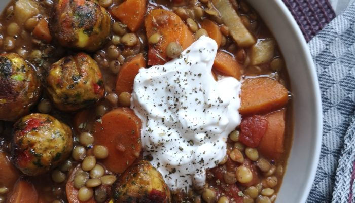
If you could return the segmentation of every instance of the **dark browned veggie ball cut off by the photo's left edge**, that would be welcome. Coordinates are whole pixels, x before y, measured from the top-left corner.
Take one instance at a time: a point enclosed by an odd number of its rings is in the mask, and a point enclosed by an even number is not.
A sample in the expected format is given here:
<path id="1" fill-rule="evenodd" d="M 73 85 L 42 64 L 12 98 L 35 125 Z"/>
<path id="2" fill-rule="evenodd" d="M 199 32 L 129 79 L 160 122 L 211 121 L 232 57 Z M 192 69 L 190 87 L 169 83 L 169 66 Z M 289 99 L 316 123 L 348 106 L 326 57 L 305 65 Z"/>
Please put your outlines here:
<path id="1" fill-rule="evenodd" d="M 0 54 L 0 120 L 15 121 L 28 114 L 40 95 L 32 67 L 18 54 Z"/>

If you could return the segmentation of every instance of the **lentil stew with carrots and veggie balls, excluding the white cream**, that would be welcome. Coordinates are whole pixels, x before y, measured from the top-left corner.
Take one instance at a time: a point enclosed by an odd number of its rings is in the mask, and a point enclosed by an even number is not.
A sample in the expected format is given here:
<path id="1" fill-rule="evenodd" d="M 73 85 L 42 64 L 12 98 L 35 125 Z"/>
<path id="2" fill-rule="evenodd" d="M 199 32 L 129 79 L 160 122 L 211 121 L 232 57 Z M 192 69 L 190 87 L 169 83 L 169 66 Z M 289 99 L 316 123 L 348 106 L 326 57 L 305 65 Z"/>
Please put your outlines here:
<path id="1" fill-rule="evenodd" d="M 241 81 L 242 119 L 204 186 L 170 190 L 129 108 L 134 78 L 201 36 L 218 46 L 215 80 Z M 292 94 L 277 42 L 244 0 L 11 0 L 0 52 L 0 203 L 277 198 Z"/>

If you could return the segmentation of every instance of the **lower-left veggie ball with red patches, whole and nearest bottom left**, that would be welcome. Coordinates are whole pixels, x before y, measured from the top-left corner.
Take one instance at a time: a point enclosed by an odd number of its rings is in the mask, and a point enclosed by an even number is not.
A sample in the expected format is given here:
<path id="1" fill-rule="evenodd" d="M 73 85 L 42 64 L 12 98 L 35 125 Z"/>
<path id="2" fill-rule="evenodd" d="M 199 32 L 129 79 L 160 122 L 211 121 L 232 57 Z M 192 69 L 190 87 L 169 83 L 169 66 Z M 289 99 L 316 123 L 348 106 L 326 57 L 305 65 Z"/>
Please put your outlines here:
<path id="1" fill-rule="evenodd" d="M 72 149 L 72 130 L 50 115 L 30 114 L 14 125 L 13 162 L 26 175 L 51 170 L 68 158 Z"/>

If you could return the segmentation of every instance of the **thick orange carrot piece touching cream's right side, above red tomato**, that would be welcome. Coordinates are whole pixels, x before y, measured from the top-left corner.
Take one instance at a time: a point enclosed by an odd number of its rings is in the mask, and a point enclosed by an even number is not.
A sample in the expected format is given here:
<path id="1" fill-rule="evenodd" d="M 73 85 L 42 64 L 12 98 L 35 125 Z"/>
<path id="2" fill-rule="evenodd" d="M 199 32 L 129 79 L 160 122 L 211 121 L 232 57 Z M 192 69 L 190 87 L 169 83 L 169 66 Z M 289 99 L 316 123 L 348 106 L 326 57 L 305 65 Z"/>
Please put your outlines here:
<path id="1" fill-rule="evenodd" d="M 271 78 L 246 79 L 241 86 L 239 112 L 245 114 L 265 113 L 285 106 L 288 91 Z"/>

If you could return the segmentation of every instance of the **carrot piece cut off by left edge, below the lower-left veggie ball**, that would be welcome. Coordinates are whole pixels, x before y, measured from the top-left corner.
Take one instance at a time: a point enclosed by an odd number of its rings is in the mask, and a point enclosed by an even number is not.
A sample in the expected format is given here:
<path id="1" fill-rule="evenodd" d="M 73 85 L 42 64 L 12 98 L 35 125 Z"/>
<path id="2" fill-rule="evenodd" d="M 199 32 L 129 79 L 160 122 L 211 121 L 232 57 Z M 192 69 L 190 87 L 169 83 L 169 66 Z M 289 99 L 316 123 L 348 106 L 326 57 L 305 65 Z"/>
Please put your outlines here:
<path id="1" fill-rule="evenodd" d="M 18 170 L 10 162 L 6 154 L 0 152 L 0 187 L 12 188 L 19 176 Z"/>

